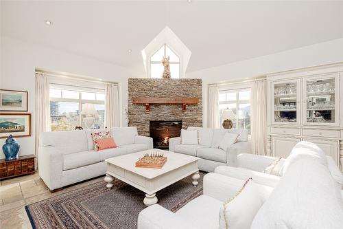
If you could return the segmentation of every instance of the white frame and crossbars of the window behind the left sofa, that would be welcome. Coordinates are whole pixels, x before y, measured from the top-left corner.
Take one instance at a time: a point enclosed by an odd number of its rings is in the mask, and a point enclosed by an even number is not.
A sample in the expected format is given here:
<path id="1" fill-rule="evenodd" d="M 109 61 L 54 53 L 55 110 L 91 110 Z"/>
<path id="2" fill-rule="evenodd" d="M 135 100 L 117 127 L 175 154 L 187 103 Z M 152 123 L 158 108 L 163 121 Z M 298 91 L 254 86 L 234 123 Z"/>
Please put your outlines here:
<path id="1" fill-rule="evenodd" d="M 74 88 L 74 89 L 73 89 Z M 82 89 L 84 88 L 84 89 Z M 63 87 L 63 85 L 58 85 L 54 83 L 49 84 L 49 89 L 59 89 L 61 90 L 60 98 L 58 97 L 50 97 L 49 96 L 49 101 L 55 101 L 55 102 L 78 102 L 79 104 L 79 118 L 78 118 L 78 126 L 82 127 L 82 104 L 85 103 L 92 103 L 95 105 L 105 105 L 105 100 L 96 100 L 97 99 L 97 94 L 105 94 L 104 89 L 95 89 L 95 88 L 88 88 L 87 87 L 76 87 L 73 86 L 71 88 L 68 88 L 66 85 Z M 79 98 L 62 98 L 62 91 L 78 91 Z M 84 100 L 82 99 L 82 92 L 88 92 L 88 93 L 95 93 L 95 100 Z M 50 114 L 49 114 L 50 116 Z M 105 113 L 106 116 L 106 113 Z M 105 120 L 104 120 L 105 122 Z M 104 123 L 105 126 L 105 123 Z"/>

